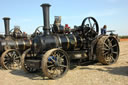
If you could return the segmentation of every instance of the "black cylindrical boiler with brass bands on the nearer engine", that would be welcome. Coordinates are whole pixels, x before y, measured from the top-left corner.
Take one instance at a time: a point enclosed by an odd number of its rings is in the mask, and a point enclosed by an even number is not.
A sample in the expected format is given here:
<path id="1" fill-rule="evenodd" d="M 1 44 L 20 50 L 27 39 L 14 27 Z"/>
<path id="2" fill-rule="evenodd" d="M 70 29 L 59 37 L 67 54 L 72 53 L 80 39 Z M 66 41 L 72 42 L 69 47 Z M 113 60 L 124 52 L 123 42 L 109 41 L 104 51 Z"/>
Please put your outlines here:
<path id="1" fill-rule="evenodd" d="M 52 48 L 71 51 L 82 47 L 83 39 L 73 34 L 40 36 L 36 37 L 32 44 L 32 49 L 36 52 L 43 52 Z"/>

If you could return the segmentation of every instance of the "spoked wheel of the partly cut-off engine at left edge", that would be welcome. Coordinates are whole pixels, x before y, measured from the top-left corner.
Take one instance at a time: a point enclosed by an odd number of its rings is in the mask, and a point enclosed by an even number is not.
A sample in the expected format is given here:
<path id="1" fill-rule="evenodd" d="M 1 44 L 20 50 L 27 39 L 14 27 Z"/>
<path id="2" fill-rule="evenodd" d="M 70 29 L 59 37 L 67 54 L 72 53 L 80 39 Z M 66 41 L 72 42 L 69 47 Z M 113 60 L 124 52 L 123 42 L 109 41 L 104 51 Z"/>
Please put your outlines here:
<path id="1" fill-rule="evenodd" d="M 16 49 L 8 49 L 1 55 L 1 66 L 5 69 L 20 69 L 20 52 Z"/>

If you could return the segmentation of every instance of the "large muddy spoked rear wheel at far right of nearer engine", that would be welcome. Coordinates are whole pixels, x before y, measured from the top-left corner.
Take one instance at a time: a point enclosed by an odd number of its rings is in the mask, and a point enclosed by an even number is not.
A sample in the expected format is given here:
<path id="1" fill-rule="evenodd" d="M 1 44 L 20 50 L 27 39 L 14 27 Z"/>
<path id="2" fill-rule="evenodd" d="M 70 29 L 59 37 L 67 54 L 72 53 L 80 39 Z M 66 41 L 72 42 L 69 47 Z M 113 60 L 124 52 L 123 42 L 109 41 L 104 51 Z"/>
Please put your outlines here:
<path id="1" fill-rule="evenodd" d="M 102 64 L 113 64 L 119 57 L 119 45 L 117 39 L 112 36 L 103 36 L 96 47 L 98 61 Z"/>

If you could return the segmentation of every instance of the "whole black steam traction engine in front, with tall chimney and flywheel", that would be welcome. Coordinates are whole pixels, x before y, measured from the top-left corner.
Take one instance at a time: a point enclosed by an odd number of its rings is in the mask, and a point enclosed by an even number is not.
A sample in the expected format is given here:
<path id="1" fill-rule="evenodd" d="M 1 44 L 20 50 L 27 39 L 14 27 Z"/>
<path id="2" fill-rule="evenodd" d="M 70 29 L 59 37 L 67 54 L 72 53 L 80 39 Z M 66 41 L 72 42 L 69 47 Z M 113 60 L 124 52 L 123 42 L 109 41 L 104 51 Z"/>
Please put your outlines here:
<path id="1" fill-rule="evenodd" d="M 99 27 L 93 17 L 83 20 L 81 26 L 65 32 L 60 17 L 55 18 L 53 27 L 49 24 L 49 4 L 42 4 L 44 15 L 44 33 L 37 35 L 31 48 L 21 59 L 26 72 L 41 70 L 51 79 L 62 77 L 74 59 L 86 61 L 98 60 L 102 64 L 113 64 L 119 56 L 118 41 L 111 35 L 98 35 Z M 50 30 L 52 29 L 52 31 Z"/>

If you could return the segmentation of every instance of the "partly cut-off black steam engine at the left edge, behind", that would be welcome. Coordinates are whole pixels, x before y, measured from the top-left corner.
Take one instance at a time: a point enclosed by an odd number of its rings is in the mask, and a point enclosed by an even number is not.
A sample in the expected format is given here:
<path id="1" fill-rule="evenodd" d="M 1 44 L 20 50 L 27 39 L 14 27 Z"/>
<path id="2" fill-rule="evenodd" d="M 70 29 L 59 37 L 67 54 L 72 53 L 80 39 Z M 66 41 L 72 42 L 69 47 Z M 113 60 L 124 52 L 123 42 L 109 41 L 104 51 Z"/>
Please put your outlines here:
<path id="1" fill-rule="evenodd" d="M 5 69 L 20 67 L 20 57 L 24 50 L 30 48 L 31 40 L 22 33 L 18 26 L 10 30 L 10 18 L 4 17 L 5 35 L 0 38 L 0 65 Z"/>

